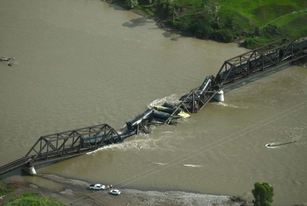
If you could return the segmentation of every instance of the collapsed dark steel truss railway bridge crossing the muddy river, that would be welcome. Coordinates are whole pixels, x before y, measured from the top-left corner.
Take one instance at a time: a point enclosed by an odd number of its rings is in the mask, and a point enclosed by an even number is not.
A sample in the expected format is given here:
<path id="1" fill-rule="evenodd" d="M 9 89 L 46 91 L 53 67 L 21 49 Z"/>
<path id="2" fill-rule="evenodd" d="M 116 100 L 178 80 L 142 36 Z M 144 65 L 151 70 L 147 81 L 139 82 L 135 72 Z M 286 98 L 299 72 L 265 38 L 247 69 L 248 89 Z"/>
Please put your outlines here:
<path id="1" fill-rule="evenodd" d="M 292 42 L 288 39 L 273 41 L 263 47 L 226 60 L 217 75 L 206 77 L 204 83 L 180 98 L 180 103 L 170 106 L 170 112 L 148 109 L 134 120 L 127 122 L 125 131 L 118 133 L 107 124 L 95 125 L 46 136 L 40 136 L 27 154 L 0 167 L 0 175 L 19 168 L 60 161 L 95 151 L 108 144 L 118 143 L 128 136 L 148 132 L 148 125 L 172 124 L 180 117 L 179 111 L 200 111 L 222 88 L 247 80 L 298 59 L 307 58 L 307 38 Z"/>

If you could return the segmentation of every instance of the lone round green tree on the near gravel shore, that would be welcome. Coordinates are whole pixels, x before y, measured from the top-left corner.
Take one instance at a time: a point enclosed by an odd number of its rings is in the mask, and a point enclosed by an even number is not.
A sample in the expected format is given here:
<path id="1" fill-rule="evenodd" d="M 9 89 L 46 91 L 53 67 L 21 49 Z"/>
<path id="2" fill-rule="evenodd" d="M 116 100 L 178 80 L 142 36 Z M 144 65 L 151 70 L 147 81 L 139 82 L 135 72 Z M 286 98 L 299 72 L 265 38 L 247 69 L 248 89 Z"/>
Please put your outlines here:
<path id="1" fill-rule="evenodd" d="M 273 187 L 267 182 L 255 182 L 252 193 L 254 195 L 254 206 L 271 206 L 273 202 Z"/>

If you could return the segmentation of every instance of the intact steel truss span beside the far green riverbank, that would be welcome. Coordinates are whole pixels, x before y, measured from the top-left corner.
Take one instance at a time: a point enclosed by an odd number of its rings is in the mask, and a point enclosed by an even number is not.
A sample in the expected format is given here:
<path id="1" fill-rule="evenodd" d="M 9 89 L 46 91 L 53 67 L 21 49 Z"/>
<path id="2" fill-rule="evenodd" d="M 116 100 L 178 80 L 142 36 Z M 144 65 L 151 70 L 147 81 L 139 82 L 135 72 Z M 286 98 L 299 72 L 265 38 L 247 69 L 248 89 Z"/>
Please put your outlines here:
<path id="1" fill-rule="evenodd" d="M 218 71 L 215 82 L 222 87 L 236 80 L 265 72 L 306 56 L 304 48 L 288 39 L 279 39 L 250 52 L 226 60 Z"/>

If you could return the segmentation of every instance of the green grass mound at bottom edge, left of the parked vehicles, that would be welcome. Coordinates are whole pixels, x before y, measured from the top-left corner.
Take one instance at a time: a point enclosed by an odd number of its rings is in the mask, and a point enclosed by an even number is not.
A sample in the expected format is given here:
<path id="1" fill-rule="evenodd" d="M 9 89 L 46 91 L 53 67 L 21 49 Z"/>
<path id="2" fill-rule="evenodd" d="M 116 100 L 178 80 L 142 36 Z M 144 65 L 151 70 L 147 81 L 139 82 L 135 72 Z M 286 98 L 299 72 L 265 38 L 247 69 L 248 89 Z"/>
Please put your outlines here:
<path id="1" fill-rule="evenodd" d="M 4 204 L 5 206 L 9 205 L 20 205 L 20 206 L 28 206 L 28 205 L 46 205 L 46 206 L 62 206 L 64 205 L 60 201 L 49 198 L 49 197 L 41 197 L 38 193 L 25 193 L 19 195 Z"/>

